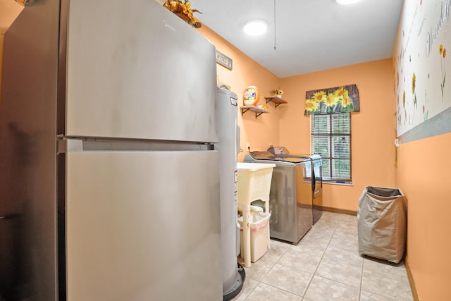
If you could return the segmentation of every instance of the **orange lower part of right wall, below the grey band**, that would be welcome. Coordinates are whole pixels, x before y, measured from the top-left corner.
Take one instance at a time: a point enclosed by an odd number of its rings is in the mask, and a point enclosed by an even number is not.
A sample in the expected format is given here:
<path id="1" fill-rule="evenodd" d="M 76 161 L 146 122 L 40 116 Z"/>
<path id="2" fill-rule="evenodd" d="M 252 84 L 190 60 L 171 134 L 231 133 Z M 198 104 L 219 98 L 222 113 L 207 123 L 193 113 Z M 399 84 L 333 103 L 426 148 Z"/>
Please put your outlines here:
<path id="1" fill-rule="evenodd" d="M 451 133 L 398 147 L 396 185 L 407 197 L 407 262 L 421 300 L 450 300 Z"/>

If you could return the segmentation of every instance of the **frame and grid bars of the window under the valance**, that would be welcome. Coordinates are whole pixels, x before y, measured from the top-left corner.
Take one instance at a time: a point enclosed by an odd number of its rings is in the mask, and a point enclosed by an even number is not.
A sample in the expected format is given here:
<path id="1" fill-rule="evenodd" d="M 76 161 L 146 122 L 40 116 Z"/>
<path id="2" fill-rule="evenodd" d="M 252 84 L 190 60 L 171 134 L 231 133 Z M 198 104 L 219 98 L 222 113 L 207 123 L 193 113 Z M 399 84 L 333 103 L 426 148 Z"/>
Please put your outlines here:
<path id="1" fill-rule="evenodd" d="M 349 116 L 349 133 L 333 133 L 333 116 L 336 114 L 347 114 Z M 333 114 L 316 114 L 310 116 L 310 150 L 311 154 L 317 154 L 314 152 L 314 140 L 318 137 L 327 137 L 328 138 L 328 154 L 329 156 L 323 156 L 321 155 L 321 159 L 323 161 L 323 166 L 325 166 L 325 161 L 328 162 L 329 173 L 327 175 L 324 174 L 324 168 L 323 168 L 323 182 L 326 183 L 346 183 L 351 184 L 352 183 L 352 117 L 350 112 L 346 113 L 333 113 Z M 327 130 L 320 131 L 321 133 L 315 133 L 314 126 L 315 126 L 315 118 L 316 116 L 321 116 L 321 118 L 328 118 L 327 121 Z M 318 132 L 318 131 L 316 131 Z M 326 132 L 326 133 L 323 133 Z M 349 158 L 343 158 L 342 156 L 333 156 L 333 147 L 334 142 L 333 139 L 336 137 L 348 137 L 349 140 Z M 349 178 L 347 177 L 339 177 L 333 175 L 333 166 L 335 166 L 335 161 L 349 161 Z"/>

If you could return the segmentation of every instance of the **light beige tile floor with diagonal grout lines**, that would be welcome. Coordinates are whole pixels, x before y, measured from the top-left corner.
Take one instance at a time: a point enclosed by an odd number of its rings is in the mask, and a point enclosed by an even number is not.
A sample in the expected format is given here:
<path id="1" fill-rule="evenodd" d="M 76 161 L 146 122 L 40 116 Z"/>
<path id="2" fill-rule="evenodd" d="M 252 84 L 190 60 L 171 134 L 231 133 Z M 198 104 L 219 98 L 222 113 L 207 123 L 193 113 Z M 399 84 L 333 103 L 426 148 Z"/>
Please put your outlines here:
<path id="1" fill-rule="evenodd" d="M 323 212 L 298 245 L 271 240 L 233 300 L 413 300 L 403 262 L 359 255 L 357 216 Z"/>

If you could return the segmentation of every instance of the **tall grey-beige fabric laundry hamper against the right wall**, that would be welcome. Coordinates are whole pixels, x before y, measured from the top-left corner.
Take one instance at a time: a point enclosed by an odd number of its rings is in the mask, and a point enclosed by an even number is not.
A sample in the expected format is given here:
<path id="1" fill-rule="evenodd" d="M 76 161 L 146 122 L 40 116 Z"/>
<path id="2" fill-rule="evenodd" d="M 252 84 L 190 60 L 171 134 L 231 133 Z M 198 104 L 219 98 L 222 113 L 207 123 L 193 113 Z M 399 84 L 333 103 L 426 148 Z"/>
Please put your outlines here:
<path id="1" fill-rule="evenodd" d="M 404 255 L 407 210 L 399 188 L 367 186 L 357 210 L 359 253 L 399 263 Z"/>

